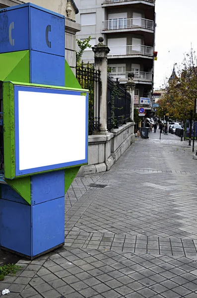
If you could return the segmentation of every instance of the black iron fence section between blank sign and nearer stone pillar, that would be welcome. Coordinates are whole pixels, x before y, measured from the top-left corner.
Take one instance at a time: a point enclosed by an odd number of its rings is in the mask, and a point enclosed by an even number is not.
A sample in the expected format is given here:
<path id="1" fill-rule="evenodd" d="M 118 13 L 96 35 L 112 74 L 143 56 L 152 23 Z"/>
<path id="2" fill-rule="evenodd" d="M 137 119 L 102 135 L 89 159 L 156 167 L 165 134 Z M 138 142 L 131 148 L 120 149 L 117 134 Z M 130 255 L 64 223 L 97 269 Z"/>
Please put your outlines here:
<path id="1" fill-rule="evenodd" d="M 100 92 L 101 72 L 95 70 L 93 65 L 76 66 L 76 78 L 83 89 L 89 90 L 89 124 L 88 134 L 100 129 Z"/>

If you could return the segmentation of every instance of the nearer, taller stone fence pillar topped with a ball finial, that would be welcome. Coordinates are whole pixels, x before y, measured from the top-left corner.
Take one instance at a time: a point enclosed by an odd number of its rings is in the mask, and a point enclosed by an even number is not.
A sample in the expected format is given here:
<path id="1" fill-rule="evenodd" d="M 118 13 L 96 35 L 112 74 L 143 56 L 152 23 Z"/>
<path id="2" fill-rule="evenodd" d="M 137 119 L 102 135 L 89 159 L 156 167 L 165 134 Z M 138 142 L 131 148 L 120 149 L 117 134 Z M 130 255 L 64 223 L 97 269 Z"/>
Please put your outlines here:
<path id="1" fill-rule="evenodd" d="M 99 43 L 92 47 L 94 52 L 94 67 L 101 71 L 101 94 L 100 94 L 100 131 L 96 134 L 106 135 L 107 130 L 107 54 L 110 49 L 103 44 L 103 37 L 99 37 Z"/>

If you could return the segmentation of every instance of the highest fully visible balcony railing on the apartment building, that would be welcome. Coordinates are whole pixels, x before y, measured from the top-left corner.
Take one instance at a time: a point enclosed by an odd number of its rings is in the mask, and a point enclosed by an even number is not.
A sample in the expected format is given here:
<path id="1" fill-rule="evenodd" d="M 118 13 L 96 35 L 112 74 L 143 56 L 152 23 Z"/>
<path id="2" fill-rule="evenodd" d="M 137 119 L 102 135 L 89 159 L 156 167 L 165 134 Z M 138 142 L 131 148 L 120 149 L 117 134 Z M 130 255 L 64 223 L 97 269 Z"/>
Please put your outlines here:
<path id="1" fill-rule="evenodd" d="M 154 22 L 144 18 L 116 18 L 102 22 L 103 30 L 117 30 L 117 29 L 131 29 L 131 28 L 145 28 L 149 30 L 154 29 Z"/>

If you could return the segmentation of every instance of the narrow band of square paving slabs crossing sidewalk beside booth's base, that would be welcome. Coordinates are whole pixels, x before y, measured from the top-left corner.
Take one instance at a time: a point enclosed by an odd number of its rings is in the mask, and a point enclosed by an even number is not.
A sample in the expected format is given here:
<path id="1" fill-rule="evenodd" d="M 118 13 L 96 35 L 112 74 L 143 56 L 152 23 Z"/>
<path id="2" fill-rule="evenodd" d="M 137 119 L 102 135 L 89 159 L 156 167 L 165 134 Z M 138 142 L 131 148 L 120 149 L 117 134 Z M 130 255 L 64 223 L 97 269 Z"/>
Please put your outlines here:
<path id="1" fill-rule="evenodd" d="M 65 245 L 67 247 L 113 249 L 134 253 L 197 256 L 197 240 L 191 238 L 70 231 L 65 238 Z"/>

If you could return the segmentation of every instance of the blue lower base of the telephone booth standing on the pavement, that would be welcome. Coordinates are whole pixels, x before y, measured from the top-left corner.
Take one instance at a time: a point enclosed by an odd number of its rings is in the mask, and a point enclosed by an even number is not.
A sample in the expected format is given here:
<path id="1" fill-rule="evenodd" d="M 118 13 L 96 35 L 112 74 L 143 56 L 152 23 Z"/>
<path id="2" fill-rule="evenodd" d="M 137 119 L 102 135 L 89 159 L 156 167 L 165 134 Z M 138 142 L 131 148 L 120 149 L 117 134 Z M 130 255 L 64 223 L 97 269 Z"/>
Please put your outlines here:
<path id="1" fill-rule="evenodd" d="M 52 184 L 49 186 L 52 187 Z M 52 189 L 49 193 L 53 193 Z M 46 193 L 42 197 L 45 195 Z M 64 244 L 65 197 L 54 199 L 50 197 L 49 201 L 38 201 L 36 205 L 29 205 L 10 186 L 1 185 L 0 247 L 2 249 L 33 259 Z"/>

